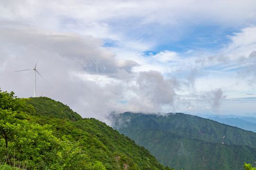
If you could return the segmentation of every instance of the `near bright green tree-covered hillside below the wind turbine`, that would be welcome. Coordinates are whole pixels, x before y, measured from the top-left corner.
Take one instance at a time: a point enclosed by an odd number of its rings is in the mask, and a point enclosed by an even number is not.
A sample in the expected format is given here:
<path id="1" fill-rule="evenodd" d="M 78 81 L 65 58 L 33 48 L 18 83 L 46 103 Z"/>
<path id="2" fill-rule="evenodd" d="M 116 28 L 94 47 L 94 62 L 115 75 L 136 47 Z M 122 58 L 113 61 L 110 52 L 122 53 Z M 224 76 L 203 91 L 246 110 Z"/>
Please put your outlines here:
<path id="1" fill-rule="evenodd" d="M 99 120 L 46 97 L 1 90 L 0 169 L 171 170 Z"/>

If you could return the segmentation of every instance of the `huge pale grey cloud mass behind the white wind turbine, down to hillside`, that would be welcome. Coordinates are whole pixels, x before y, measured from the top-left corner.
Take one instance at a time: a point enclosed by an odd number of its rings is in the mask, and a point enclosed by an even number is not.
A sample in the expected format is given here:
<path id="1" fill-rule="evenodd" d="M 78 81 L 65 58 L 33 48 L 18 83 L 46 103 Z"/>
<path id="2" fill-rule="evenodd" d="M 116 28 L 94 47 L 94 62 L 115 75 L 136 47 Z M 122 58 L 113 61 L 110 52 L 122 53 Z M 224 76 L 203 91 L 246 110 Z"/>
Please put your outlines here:
<path id="1" fill-rule="evenodd" d="M 14 91 L 19 97 L 33 96 L 33 70 L 14 71 L 34 68 L 39 59 L 37 70 L 47 83 L 37 76 L 37 96 L 64 102 L 83 117 L 102 119 L 108 112 L 122 110 L 122 81 L 134 77 L 131 68 L 137 62 L 116 59 L 92 36 L 15 27 L 0 27 L 2 90 Z M 106 79 L 97 82 L 96 76 L 86 77 L 90 74 Z"/>

